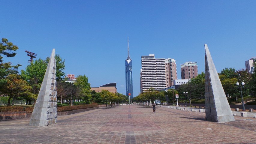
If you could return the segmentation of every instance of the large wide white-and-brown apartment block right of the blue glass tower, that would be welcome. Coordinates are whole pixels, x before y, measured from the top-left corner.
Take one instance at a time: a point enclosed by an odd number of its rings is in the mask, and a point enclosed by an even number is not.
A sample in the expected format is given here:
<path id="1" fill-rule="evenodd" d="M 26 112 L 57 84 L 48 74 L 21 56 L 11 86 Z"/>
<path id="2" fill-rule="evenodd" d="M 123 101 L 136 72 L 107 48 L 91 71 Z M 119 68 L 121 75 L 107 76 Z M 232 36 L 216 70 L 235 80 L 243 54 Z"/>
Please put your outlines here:
<path id="1" fill-rule="evenodd" d="M 173 85 L 177 79 L 176 61 L 173 58 L 155 58 L 154 54 L 141 56 L 140 88 L 162 90 Z"/>

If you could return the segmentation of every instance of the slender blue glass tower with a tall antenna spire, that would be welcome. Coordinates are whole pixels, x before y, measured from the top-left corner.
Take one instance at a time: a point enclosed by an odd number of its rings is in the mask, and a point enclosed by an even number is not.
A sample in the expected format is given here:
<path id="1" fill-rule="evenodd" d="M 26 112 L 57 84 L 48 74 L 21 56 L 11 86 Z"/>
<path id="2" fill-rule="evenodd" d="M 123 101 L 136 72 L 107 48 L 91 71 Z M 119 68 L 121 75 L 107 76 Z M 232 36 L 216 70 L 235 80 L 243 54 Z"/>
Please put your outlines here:
<path id="1" fill-rule="evenodd" d="M 129 53 L 129 38 L 128 38 L 128 57 L 125 60 L 125 93 L 126 96 L 131 93 L 131 98 L 133 98 L 132 92 L 132 61 Z"/>

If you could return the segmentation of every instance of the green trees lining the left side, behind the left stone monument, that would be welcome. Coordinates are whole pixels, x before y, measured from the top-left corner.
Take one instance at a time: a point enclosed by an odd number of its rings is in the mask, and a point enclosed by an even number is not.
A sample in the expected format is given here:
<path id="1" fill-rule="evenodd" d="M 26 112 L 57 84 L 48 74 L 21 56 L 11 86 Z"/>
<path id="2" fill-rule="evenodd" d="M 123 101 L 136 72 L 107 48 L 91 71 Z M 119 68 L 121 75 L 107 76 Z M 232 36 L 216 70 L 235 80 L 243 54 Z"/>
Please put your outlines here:
<path id="1" fill-rule="evenodd" d="M 26 104 L 32 104 L 37 99 L 44 74 L 47 69 L 49 57 L 32 61 L 25 70 L 18 72 L 20 64 L 12 65 L 11 62 L 3 62 L 3 57 L 14 57 L 18 46 L 3 38 L 0 43 L 0 96 L 8 96 L 8 104 L 14 104 L 14 100 L 26 100 Z M 55 55 L 56 59 L 56 80 L 57 80 L 57 98 L 61 101 L 66 100 L 73 105 L 73 100 L 89 102 L 113 103 L 126 101 L 126 96 L 115 94 L 109 91 L 96 93 L 91 91 L 91 85 L 86 75 L 77 76 L 76 82 L 65 82 L 65 60 L 60 55 Z"/>

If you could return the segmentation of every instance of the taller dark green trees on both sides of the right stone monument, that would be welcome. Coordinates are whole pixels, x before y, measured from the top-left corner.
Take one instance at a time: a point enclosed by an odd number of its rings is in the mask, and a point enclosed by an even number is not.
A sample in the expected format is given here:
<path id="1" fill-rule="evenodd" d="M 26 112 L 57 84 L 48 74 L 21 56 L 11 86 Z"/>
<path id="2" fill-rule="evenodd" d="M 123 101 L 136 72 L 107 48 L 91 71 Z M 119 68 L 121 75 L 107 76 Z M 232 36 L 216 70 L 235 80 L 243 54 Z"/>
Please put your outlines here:
<path id="1" fill-rule="evenodd" d="M 254 63 L 254 69 L 256 68 L 256 63 Z M 254 96 L 256 92 L 256 73 L 248 73 L 245 69 L 235 70 L 235 68 L 224 68 L 218 73 L 223 86 L 224 92 L 227 97 L 233 98 L 235 101 L 241 96 L 240 89 L 237 87 L 236 82 L 245 82 L 243 88 L 244 96 Z M 205 98 L 205 73 L 202 72 L 198 74 L 196 78 L 191 79 L 186 84 L 181 85 L 178 88 L 178 92 L 185 96 L 183 92 L 188 92 L 187 98 L 191 103 L 191 99 Z"/>

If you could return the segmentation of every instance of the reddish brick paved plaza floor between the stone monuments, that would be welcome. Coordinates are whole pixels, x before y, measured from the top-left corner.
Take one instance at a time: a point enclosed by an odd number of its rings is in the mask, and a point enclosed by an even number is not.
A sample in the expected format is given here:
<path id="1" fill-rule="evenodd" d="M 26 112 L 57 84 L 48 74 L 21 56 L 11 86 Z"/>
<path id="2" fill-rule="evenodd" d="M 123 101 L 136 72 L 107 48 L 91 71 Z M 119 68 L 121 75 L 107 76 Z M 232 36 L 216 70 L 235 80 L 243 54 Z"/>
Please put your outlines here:
<path id="1" fill-rule="evenodd" d="M 123 105 L 68 116 L 47 127 L 0 121 L 0 143 L 256 143 L 256 118 L 205 121 L 205 113 Z"/>

